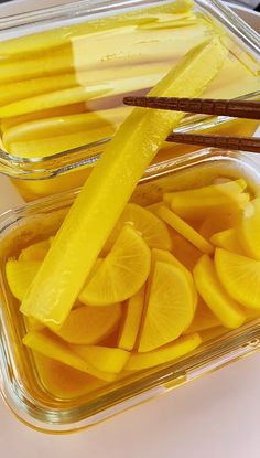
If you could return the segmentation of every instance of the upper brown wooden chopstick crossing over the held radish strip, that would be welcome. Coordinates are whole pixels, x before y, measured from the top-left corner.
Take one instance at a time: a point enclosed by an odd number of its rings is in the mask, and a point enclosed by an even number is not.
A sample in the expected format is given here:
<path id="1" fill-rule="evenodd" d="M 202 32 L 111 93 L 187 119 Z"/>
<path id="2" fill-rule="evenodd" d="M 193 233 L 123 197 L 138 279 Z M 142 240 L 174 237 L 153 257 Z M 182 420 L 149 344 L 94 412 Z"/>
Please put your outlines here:
<path id="1" fill-rule="evenodd" d="M 260 102 L 215 98 L 134 97 L 123 98 L 126 105 L 203 115 L 260 119 Z"/>

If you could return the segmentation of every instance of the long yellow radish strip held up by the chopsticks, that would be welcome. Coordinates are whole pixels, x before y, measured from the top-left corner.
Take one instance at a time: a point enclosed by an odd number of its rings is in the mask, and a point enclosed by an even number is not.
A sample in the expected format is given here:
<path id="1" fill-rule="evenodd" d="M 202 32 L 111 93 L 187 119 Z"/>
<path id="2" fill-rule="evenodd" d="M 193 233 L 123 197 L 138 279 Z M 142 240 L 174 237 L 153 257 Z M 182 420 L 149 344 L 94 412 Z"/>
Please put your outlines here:
<path id="1" fill-rule="evenodd" d="M 199 95 L 221 68 L 219 40 L 188 53 L 151 96 Z M 109 143 L 68 212 L 21 311 L 61 328 L 138 180 L 183 114 L 136 108 Z M 41 291 L 41 295 L 39 294 Z"/>

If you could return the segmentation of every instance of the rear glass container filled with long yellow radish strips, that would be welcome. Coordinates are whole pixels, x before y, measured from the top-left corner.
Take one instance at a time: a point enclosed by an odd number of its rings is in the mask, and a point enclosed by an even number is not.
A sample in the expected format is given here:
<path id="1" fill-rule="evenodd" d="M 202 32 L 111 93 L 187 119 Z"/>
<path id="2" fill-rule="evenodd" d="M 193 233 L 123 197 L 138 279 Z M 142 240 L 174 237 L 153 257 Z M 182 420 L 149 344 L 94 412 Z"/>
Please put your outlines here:
<path id="1" fill-rule="evenodd" d="M 83 0 L 0 20 L 0 171 L 26 200 L 80 185 L 131 110 L 123 95 L 147 94 L 215 33 L 230 52 L 204 95 L 258 97 L 259 35 L 218 0 Z M 177 130 L 257 126 L 186 116 Z M 155 161 L 195 148 L 165 143 Z"/>

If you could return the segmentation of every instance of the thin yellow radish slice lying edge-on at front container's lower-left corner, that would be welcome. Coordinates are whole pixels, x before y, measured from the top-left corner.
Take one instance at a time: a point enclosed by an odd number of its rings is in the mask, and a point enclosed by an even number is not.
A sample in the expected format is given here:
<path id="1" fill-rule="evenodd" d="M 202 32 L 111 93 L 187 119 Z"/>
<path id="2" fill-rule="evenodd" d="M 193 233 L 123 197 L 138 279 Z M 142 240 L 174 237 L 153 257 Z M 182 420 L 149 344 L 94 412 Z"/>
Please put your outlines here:
<path id="1" fill-rule="evenodd" d="M 115 380 L 113 374 L 98 371 L 90 363 L 86 362 L 69 345 L 62 340 L 55 338 L 48 330 L 31 331 L 23 338 L 23 344 L 29 347 L 44 356 L 59 361 L 78 371 L 90 374 L 97 379 L 111 382 Z"/>

